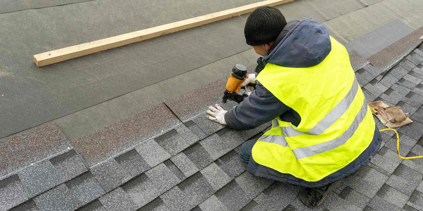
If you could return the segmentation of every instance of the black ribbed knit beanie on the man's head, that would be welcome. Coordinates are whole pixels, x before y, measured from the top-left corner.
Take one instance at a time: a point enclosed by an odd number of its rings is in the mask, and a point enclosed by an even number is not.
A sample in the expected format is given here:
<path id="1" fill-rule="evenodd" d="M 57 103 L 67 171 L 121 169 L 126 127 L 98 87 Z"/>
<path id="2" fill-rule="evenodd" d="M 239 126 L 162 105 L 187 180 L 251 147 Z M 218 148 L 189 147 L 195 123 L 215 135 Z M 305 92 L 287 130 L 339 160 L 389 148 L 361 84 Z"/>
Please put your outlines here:
<path id="1" fill-rule="evenodd" d="M 245 40 L 250 46 L 275 41 L 285 25 L 285 17 L 278 9 L 258 7 L 248 16 L 245 23 Z"/>

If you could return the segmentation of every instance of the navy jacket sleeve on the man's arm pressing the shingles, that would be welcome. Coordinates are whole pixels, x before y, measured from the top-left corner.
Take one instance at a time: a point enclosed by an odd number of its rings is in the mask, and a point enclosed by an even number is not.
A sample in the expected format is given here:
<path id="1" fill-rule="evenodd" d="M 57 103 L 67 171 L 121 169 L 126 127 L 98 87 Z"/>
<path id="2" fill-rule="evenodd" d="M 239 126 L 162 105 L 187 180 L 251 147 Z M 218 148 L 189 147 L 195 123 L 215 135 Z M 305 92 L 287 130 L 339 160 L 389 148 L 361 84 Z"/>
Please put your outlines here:
<path id="1" fill-rule="evenodd" d="M 291 108 L 256 81 L 255 91 L 225 114 L 225 122 L 234 130 L 250 130 L 272 121 Z"/>

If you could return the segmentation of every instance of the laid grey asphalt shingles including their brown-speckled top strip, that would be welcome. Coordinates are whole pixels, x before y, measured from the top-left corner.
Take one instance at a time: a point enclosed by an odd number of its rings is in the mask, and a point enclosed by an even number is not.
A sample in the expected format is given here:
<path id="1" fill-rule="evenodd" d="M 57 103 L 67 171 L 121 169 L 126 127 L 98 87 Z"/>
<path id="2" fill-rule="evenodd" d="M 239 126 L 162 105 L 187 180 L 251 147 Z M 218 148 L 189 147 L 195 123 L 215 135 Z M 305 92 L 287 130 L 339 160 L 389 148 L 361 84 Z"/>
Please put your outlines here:
<path id="1" fill-rule="evenodd" d="M 390 55 L 398 45 L 377 54 Z M 374 65 L 376 54 L 364 60 L 350 53 L 366 99 L 399 105 L 414 121 L 398 129 L 400 153 L 407 156 L 423 155 L 421 50 L 401 61 L 392 59 L 395 54 L 382 66 Z M 299 201 L 298 187 L 255 177 L 239 159 L 240 145 L 269 123 L 235 131 L 206 118 L 207 106 L 220 103 L 225 81 L 77 140 L 67 140 L 55 124 L 6 140 L 0 145 L 0 210 L 311 210 Z M 423 159 L 398 158 L 393 133 L 382 137 L 371 162 L 314 210 L 423 210 Z"/>

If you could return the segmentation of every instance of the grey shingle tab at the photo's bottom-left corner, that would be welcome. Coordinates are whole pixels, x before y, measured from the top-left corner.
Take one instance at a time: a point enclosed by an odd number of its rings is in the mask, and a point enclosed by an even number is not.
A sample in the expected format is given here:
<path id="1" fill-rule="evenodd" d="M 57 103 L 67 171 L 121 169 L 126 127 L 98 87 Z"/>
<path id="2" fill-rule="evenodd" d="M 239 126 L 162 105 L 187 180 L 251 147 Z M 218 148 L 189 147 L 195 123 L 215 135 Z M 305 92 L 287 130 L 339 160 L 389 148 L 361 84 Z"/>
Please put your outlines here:
<path id="1" fill-rule="evenodd" d="M 27 199 L 17 174 L 0 180 L 0 210 L 8 210 Z"/>

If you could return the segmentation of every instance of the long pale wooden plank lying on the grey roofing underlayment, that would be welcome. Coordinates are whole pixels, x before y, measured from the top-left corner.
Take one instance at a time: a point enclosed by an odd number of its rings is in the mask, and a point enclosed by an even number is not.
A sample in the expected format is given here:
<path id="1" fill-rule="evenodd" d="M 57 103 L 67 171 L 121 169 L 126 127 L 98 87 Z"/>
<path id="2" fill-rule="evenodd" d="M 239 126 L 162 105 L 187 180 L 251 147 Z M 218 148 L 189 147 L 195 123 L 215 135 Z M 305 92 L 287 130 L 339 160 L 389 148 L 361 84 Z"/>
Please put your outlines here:
<path id="1" fill-rule="evenodd" d="M 107 49 L 124 46 L 130 43 L 148 40 L 150 38 L 155 38 L 161 35 L 170 34 L 173 32 L 178 32 L 178 31 L 190 29 L 193 27 L 198 27 L 198 26 L 208 24 L 211 22 L 216 22 L 223 19 L 231 18 L 233 16 L 239 16 L 242 14 L 250 13 L 254 11 L 255 8 L 260 6 L 276 6 L 276 5 L 288 3 L 291 1 L 294 1 L 294 0 L 265 0 L 258 3 L 244 5 L 241 7 L 236 7 L 236 8 L 220 11 L 220 12 L 198 16 L 191 19 L 173 22 L 170 24 L 164 24 L 161 26 L 151 27 L 144 30 L 126 33 L 123 35 L 117 35 L 110 38 L 104 38 L 104 39 L 92 41 L 89 43 L 83 43 L 76 46 L 66 47 L 63 49 L 47 51 L 41 54 L 34 55 L 34 62 L 37 65 L 37 67 L 41 67 L 44 65 L 49 65 L 56 62 L 70 60 L 76 57 L 81 57 L 84 55 L 96 53 L 99 51 L 104 51 Z"/>

